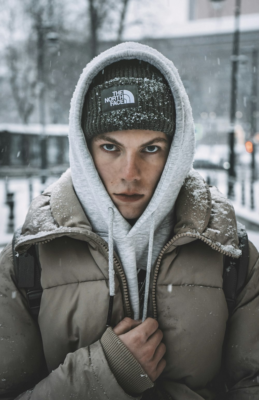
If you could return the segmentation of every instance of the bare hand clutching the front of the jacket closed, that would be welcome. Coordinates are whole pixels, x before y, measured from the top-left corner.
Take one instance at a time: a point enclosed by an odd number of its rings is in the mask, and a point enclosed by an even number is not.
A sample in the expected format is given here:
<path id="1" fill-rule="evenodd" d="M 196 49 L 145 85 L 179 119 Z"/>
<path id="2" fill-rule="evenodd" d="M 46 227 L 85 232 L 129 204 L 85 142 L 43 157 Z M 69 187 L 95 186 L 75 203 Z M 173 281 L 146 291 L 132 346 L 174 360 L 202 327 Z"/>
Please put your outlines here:
<path id="1" fill-rule="evenodd" d="M 154 382 L 165 368 L 165 344 L 158 322 L 147 318 L 144 322 L 124 318 L 113 331 L 133 354 L 143 370 Z"/>

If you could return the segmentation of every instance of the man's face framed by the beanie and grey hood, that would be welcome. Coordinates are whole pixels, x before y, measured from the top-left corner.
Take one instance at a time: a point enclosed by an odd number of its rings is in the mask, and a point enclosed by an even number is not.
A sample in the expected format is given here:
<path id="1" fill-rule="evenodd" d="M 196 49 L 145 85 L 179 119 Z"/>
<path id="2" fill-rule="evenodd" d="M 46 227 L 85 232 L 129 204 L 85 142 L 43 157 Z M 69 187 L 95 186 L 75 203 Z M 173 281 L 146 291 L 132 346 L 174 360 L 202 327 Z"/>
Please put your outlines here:
<path id="1" fill-rule="evenodd" d="M 120 214 L 141 216 L 159 182 L 171 140 L 153 130 L 120 130 L 92 138 L 96 170 Z"/>

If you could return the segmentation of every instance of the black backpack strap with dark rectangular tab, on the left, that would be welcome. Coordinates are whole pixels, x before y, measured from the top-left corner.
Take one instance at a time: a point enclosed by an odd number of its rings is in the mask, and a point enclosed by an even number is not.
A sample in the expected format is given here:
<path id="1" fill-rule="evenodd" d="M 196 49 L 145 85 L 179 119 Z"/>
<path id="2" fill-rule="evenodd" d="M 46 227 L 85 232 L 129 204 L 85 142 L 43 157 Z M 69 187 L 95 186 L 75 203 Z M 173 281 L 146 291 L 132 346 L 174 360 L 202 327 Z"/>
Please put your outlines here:
<path id="1" fill-rule="evenodd" d="M 12 239 L 12 254 L 14 259 L 14 272 L 18 288 L 26 289 L 28 308 L 31 316 L 37 321 L 40 311 L 42 286 L 40 284 L 41 266 L 38 245 L 34 244 L 22 254 L 14 250 L 16 239 L 21 235 L 21 229 L 14 232 Z"/>

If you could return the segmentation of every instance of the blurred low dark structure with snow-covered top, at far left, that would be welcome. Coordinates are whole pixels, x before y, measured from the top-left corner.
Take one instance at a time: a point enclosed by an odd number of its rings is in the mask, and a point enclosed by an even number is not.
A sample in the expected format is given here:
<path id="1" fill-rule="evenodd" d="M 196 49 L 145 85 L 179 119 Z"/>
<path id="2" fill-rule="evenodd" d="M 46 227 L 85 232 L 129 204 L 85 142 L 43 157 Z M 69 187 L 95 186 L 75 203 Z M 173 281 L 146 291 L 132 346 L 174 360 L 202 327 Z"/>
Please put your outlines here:
<path id="1" fill-rule="evenodd" d="M 68 125 L 47 124 L 46 166 L 49 174 L 60 175 L 69 166 Z M 40 124 L 0 124 L 0 178 L 41 176 Z"/>

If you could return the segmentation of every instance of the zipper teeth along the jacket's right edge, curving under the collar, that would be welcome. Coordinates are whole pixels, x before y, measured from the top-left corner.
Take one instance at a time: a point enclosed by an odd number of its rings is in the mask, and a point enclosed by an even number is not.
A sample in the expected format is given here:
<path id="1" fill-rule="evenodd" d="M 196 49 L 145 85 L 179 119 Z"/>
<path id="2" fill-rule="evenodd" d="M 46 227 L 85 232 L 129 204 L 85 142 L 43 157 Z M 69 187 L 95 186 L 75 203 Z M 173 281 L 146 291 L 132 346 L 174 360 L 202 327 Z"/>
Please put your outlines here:
<path id="1" fill-rule="evenodd" d="M 207 240 L 204 236 L 201 236 L 199 234 L 181 233 L 179 235 L 175 235 L 171 240 L 169 240 L 169 242 L 161 250 L 161 252 L 158 256 L 157 265 L 155 266 L 155 270 L 154 270 L 154 279 L 153 279 L 153 285 L 152 285 L 152 304 L 153 304 L 153 318 L 155 318 L 155 320 L 157 319 L 155 288 L 156 288 L 156 284 L 157 284 L 157 274 L 158 274 L 159 266 L 160 266 L 162 257 L 165 254 L 165 251 L 171 246 L 171 244 L 173 244 L 173 242 L 175 242 L 175 240 L 182 238 L 183 236 L 192 236 L 193 238 L 201 239 L 203 242 L 207 243 L 211 248 L 213 248 L 213 250 L 221 252 L 222 254 L 225 254 L 226 256 L 232 256 L 231 253 L 222 250 L 219 246 L 216 246 L 216 244 L 214 244 L 210 240 Z"/>

